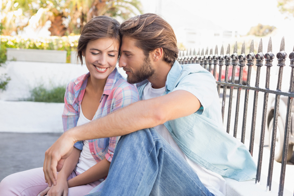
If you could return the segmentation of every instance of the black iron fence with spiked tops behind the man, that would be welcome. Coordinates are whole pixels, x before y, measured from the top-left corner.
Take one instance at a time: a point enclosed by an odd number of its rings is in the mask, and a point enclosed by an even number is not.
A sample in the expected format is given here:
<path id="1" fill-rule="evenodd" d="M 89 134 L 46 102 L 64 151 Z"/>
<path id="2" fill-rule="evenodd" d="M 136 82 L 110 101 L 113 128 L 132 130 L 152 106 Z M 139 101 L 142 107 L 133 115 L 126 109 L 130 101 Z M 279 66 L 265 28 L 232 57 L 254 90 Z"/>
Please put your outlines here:
<path id="1" fill-rule="evenodd" d="M 251 131 L 249 138 L 249 152 L 253 155 L 253 147 L 254 147 L 254 138 L 255 138 L 255 130 L 260 129 L 260 141 L 259 141 L 259 151 L 258 151 L 258 162 L 257 162 L 257 171 L 256 171 L 256 180 L 255 183 L 260 181 L 261 176 L 261 166 L 262 166 L 262 156 L 263 156 L 263 148 L 264 148 L 264 139 L 265 139 L 265 131 L 268 130 L 271 137 L 270 146 L 270 159 L 269 159 L 269 167 L 268 167 L 268 175 L 267 175 L 267 189 L 271 190 L 272 187 L 272 173 L 273 173 L 273 163 L 274 159 L 281 162 L 280 168 L 280 180 L 279 180 L 279 190 L 278 195 L 283 195 L 284 190 L 284 180 L 285 180 L 285 168 L 286 162 L 291 158 L 292 155 L 292 147 L 294 144 L 293 140 L 289 141 L 289 134 L 294 136 L 294 122 L 291 125 L 291 113 L 292 113 L 292 99 L 294 97 L 294 75 L 293 75 L 293 61 L 294 61 L 294 49 L 293 52 L 289 54 L 289 66 L 290 68 L 290 84 L 288 91 L 282 91 L 282 75 L 283 75 L 283 67 L 285 66 L 285 60 L 287 58 L 287 54 L 284 51 L 285 44 L 284 38 L 282 38 L 280 44 L 280 50 L 276 54 L 277 58 L 277 66 L 278 66 L 278 74 L 277 74 L 277 87 L 276 90 L 269 89 L 269 81 L 270 81 L 270 68 L 272 67 L 273 59 L 275 55 L 272 53 L 272 43 L 271 38 L 268 42 L 267 53 L 262 53 L 262 40 L 259 42 L 258 53 L 254 54 L 254 46 L 253 40 L 250 45 L 250 51 L 246 55 L 245 54 L 245 43 L 242 45 L 241 54 L 237 53 L 237 42 L 234 46 L 233 54 L 230 54 L 230 45 L 228 46 L 226 54 L 224 54 L 224 48 L 222 46 L 220 55 L 218 54 L 218 47 L 215 48 L 215 53 L 213 54 L 213 49 L 206 49 L 206 53 L 204 54 L 204 49 L 200 54 L 200 50 L 196 54 L 195 50 L 192 52 L 189 51 L 181 51 L 178 57 L 178 61 L 180 64 L 190 64 L 190 63 L 199 63 L 204 68 L 208 69 L 214 77 L 216 78 L 217 89 L 220 94 L 221 87 L 222 89 L 222 117 L 224 126 L 226 127 L 227 133 L 230 133 L 231 130 L 231 121 L 234 121 L 233 127 L 233 136 L 237 137 L 238 131 L 238 120 L 239 120 L 239 112 L 240 112 L 240 103 L 241 103 L 241 89 L 244 89 L 245 95 L 242 97 L 244 99 L 244 108 L 243 108 L 243 118 L 242 118 L 242 129 L 241 129 L 241 142 L 245 142 L 245 132 L 246 132 L 246 124 L 247 124 L 247 116 L 248 116 L 248 97 L 249 91 L 254 91 L 253 95 L 253 106 L 252 106 L 252 118 L 251 118 Z M 247 63 L 246 63 L 247 61 Z M 266 76 L 265 76 L 265 86 L 260 87 L 260 75 L 261 75 L 261 67 L 263 66 L 263 61 L 265 61 L 264 66 L 266 67 Z M 246 64 L 245 64 L 246 63 Z M 254 66 L 255 70 L 255 85 L 252 86 L 250 84 L 252 67 Z M 238 65 L 238 66 L 237 66 Z M 245 67 L 247 65 L 247 67 Z M 225 68 L 224 68 L 225 66 Z M 225 70 L 223 70 L 225 69 Z M 247 79 L 244 79 L 243 72 L 246 69 Z M 237 70 L 237 72 L 236 72 Z M 252 75 L 253 76 L 253 75 Z M 246 77 L 245 77 L 246 78 Z M 227 90 L 229 92 L 229 103 L 226 102 L 227 98 Z M 235 107 L 235 119 L 232 119 L 232 110 L 233 110 L 233 92 L 235 91 L 236 103 Z M 236 92 L 237 91 L 237 92 Z M 261 127 L 256 127 L 256 119 L 257 119 L 257 104 L 258 104 L 258 94 L 259 92 L 263 92 L 263 109 L 262 109 L 262 117 L 261 117 Z M 269 95 L 274 96 L 274 101 L 272 102 L 273 107 L 272 110 L 268 109 Z M 282 95 L 284 99 L 284 104 L 286 110 L 279 111 L 280 108 L 280 96 Z M 270 105 L 271 106 L 271 105 Z M 269 106 L 269 107 L 270 107 Z M 228 111 L 225 113 L 225 110 Z M 234 111 L 233 111 L 234 112 Z M 284 114 L 285 113 L 285 114 Z M 226 115 L 226 116 L 225 116 Z M 260 119 L 258 118 L 258 120 Z M 294 120 L 292 120 L 294 121 Z M 282 123 L 282 125 L 281 125 Z M 291 126 L 293 127 L 291 129 Z M 280 130 L 282 129 L 282 130 Z M 277 136 L 278 130 L 278 136 Z M 282 137 L 282 138 L 281 138 Z M 281 145 L 278 146 L 281 151 L 280 155 L 275 154 L 276 144 Z M 257 148 L 257 147 L 256 147 Z M 281 150 L 282 149 L 282 150 Z M 292 174 L 293 175 L 293 174 Z M 293 184 L 294 185 L 294 184 Z"/>

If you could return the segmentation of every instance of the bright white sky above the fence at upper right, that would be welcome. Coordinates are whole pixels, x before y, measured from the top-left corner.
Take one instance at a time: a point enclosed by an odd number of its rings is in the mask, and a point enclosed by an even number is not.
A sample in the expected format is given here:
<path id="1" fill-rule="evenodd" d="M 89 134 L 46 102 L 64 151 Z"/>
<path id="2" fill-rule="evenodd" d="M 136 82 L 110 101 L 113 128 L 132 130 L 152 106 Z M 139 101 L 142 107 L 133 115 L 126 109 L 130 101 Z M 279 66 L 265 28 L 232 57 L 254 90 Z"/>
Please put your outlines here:
<path id="1" fill-rule="evenodd" d="M 141 0 L 144 12 L 158 13 L 169 22 L 192 20 L 193 16 L 219 23 L 224 29 L 245 35 L 258 23 L 282 28 L 289 24 L 277 8 L 277 0 Z M 182 13 L 190 19 L 181 18 Z M 174 27 L 176 28 L 176 27 Z"/>

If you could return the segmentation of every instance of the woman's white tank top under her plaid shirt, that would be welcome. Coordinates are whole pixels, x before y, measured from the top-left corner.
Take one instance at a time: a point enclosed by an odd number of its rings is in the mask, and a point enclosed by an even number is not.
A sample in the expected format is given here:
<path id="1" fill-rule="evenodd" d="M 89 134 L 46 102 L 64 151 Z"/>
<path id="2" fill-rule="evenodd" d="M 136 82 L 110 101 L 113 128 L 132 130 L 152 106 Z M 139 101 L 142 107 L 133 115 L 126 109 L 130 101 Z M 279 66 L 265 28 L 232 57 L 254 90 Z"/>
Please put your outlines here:
<path id="1" fill-rule="evenodd" d="M 79 118 L 77 120 L 76 126 L 80 126 L 88 122 L 90 122 L 90 120 L 83 115 L 83 112 L 80 106 Z M 78 163 L 75 167 L 76 171 L 79 173 L 82 173 L 88 170 L 90 167 L 94 166 L 97 163 L 90 152 L 88 140 L 84 140 L 83 143 L 84 143 L 83 149 L 80 153 Z"/>

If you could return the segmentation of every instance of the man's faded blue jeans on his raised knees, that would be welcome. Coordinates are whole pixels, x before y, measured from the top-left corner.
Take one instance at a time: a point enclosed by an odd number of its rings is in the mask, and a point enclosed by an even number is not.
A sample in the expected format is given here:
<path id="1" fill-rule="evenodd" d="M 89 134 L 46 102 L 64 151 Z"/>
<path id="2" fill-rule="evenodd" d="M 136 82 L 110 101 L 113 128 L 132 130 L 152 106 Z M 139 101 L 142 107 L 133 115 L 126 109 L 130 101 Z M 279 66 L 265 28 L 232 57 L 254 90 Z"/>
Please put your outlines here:
<path id="1" fill-rule="evenodd" d="M 214 196 L 153 128 L 121 137 L 104 185 L 87 195 Z"/>

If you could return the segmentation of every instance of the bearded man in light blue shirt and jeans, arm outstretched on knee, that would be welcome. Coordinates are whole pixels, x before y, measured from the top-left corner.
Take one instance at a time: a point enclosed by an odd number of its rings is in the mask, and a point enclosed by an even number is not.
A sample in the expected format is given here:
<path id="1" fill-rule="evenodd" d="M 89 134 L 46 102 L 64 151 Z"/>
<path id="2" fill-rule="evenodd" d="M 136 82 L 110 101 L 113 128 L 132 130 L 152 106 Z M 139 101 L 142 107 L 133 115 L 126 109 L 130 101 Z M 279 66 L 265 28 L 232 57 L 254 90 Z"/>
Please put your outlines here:
<path id="1" fill-rule="evenodd" d="M 179 65 L 171 26 L 144 14 L 120 31 L 119 66 L 142 101 L 65 132 L 45 154 L 49 186 L 75 142 L 121 135 L 108 177 L 91 195 L 225 195 L 222 176 L 254 178 L 248 150 L 222 128 L 214 77 Z"/>

